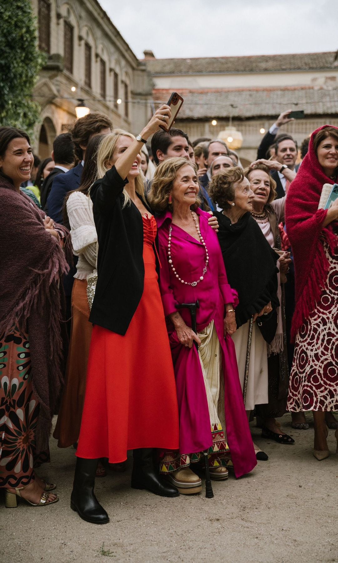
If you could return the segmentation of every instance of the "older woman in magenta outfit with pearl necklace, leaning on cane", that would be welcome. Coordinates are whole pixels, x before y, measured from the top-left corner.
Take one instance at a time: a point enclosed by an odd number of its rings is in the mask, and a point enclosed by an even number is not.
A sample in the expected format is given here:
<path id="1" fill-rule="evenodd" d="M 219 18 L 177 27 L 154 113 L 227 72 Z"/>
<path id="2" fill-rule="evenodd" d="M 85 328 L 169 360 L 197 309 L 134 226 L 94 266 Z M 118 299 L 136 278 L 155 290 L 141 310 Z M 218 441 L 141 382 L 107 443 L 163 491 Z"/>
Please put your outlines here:
<path id="1" fill-rule="evenodd" d="M 209 449 L 212 479 L 226 479 L 230 458 L 236 477 L 256 465 L 230 337 L 236 329 L 237 293 L 228 284 L 208 214 L 198 208 L 198 191 L 194 165 L 172 158 L 158 167 L 149 193 L 154 212 L 161 214 L 160 289 L 180 413 L 180 450 L 164 455 L 161 471 L 186 494 L 201 490 L 189 466 L 202 450 Z M 195 334 L 189 310 L 176 305 L 197 300 Z"/>

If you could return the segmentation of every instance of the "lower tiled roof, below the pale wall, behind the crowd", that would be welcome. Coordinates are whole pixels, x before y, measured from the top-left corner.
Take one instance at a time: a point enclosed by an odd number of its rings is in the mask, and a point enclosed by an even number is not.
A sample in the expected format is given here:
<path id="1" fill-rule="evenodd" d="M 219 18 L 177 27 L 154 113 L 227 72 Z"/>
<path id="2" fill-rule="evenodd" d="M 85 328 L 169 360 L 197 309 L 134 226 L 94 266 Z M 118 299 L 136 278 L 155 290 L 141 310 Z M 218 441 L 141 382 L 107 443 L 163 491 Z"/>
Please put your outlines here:
<path id="1" fill-rule="evenodd" d="M 179 119 L 279 115 L 303 109 L 306 115 L 338 114 L 338 88 L 288 87 L 250 90 L 177 90 L 184 98 Z M 154 101 L 166 103 L 171 90 L 153 90 Z"/>

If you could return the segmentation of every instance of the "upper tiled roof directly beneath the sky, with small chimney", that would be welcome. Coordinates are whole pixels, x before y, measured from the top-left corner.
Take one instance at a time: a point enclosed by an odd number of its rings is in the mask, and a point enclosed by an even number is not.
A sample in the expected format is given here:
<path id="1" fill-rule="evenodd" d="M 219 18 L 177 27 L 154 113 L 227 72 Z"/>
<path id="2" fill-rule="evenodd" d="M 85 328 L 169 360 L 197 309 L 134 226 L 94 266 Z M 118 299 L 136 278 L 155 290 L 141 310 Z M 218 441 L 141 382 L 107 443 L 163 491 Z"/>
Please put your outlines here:
<path id="1" fill-rule="evenodd" d="M 337 68 L 336 52 L 257 55 L 250 57 L 198 57 L 196 59 L 145 59 L 150 73 L 213 74 L 327 70 Z"/>

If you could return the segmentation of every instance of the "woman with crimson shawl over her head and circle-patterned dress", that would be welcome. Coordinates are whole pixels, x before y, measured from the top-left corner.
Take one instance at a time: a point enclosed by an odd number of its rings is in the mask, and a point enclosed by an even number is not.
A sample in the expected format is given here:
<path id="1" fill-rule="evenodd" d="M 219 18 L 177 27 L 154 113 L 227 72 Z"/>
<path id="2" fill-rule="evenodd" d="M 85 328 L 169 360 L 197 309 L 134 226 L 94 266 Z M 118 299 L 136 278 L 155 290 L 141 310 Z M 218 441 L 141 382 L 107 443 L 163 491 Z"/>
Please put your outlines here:
<path id="1" fill-rule="evenodd" d="M 295 341 L 288 410 L 312 410 L 314 456 L 330 454 L 325 413 L 338 410 L 338 200 L 318 209 L 324 184 L 338 175 L 338 128 L 312 133 L 286 200 L 286 228 L 295 262 Z M 338 443 L 338 430 L 336 430 Z"/>

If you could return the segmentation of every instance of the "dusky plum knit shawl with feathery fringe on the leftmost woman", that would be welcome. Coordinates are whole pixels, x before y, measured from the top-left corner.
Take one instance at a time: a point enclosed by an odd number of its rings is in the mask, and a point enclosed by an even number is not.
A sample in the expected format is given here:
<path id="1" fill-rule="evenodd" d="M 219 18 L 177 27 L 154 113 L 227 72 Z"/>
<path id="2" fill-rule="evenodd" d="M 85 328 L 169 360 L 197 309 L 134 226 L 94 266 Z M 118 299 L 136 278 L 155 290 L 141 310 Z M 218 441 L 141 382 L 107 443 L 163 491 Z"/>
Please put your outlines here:
<path id="1" fill-rule="evenodd" d="M 14 327 L 28 332 L 33 390 L 40 404 L 37 453 L 48 446 L 52 415 L 61 390 L 61 276 L 69 270 L 65 252 L 43 225 L 45 213 L 0 176 L 0 337 Z M 62 284 L 61 284 L 62 286 Z"/>

